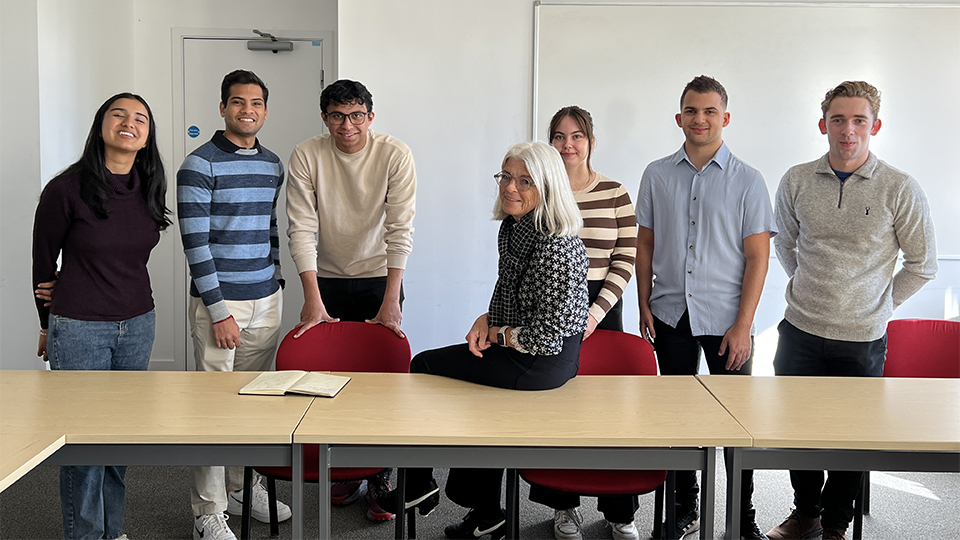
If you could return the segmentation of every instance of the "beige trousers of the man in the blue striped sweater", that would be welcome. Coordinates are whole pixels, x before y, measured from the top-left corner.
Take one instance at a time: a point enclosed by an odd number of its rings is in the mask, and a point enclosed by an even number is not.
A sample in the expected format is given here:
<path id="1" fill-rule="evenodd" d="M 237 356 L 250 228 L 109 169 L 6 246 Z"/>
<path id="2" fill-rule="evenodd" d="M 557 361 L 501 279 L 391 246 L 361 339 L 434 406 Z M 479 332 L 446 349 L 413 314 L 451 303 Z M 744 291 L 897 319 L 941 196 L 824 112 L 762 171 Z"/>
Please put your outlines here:
<path id="1" fill-rule="evenodd" d="M 221 349 L 213 337 L 210 312 L 190 297 L 187 316 L 193 337 L 197 371 L 269 371 L 280 339 L 282 291 L 257 300 L 227 300 L 227 309 L 240 327 L 240 346 Z M 191 467 L 190 504 L 196 516 L 227 510 L 227 480 L 231 491 L 243 489 L 243 467 Z M 229 477 L 229 478 L 228 478 Z"/>

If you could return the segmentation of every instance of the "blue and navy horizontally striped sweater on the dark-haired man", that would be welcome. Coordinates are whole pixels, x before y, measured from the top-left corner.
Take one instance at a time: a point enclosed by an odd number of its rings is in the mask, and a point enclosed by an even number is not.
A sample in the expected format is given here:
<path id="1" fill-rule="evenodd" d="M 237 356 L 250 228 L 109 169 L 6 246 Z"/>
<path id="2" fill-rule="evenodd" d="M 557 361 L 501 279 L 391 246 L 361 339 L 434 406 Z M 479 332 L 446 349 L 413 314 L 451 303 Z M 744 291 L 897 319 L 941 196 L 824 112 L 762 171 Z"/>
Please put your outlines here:
<path id="1" fill-rule="evenodd" d="M 236 146 L 222 131 L 177 172 L 177 217 L 190 265 L 190 295 L 214 322 L 230 317 L 224 300 L 256 300 L 280 287 L 277 198 L 283 163 L 260 146 Z"/>

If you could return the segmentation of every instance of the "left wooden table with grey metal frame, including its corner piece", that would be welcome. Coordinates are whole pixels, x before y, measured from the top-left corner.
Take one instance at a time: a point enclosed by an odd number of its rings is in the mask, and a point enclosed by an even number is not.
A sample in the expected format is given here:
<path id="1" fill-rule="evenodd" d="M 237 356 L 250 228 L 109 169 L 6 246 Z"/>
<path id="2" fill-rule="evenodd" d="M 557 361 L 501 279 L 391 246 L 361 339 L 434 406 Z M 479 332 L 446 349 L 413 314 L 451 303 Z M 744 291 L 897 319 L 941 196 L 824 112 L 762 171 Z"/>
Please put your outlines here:
<path id="1" fill-rule="evenodd" d="M 293 466 L 312 397 L 240 396 L 254 372 L 0 371 L 0 489 L 47 465 Z M 303 534 L 294 493 L 294 536 Z M 299 497 L 299 498 L 298 498 Z"/>

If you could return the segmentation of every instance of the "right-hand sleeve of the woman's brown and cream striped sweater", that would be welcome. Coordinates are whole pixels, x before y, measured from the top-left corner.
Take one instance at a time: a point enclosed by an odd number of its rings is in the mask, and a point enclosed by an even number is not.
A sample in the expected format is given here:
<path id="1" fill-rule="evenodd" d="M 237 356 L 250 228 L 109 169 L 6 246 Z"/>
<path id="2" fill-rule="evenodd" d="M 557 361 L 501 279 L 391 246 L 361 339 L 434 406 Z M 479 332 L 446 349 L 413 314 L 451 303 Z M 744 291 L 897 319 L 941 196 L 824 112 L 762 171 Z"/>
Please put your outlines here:
<path id="1" fill-rule="evenodd" d="M 634 214 L 630 195 L 621 186 L 617 190 L 614 213 L 617 219 L 617 244 L 610 254 L 610 267 L 604 279 L 597 301 L 590 306 L 590 314 L 600 322 L 610 308 L 620 300 L 633 277 L 637 259 L 637 216 Z"/>

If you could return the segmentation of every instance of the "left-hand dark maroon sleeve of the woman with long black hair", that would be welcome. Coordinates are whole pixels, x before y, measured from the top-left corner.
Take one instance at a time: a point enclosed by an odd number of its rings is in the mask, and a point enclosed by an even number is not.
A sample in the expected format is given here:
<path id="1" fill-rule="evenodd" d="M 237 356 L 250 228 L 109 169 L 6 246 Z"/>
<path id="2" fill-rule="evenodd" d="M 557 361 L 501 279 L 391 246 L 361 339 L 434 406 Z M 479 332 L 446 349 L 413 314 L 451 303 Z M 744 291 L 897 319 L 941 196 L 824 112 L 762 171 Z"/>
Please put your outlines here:
<path id="1" fill-rule="evenodd" d="M 40 194 L 33 221 L 33 288 L 57 279 L 57 258 L 73 221 L 73 208 L 67 184 L 54 179 Z M 32 292 L 32 291 L 31 291 Z M 47 328 L 50 306 L 34 298 L 40 316 L 40 328 Z"/>

